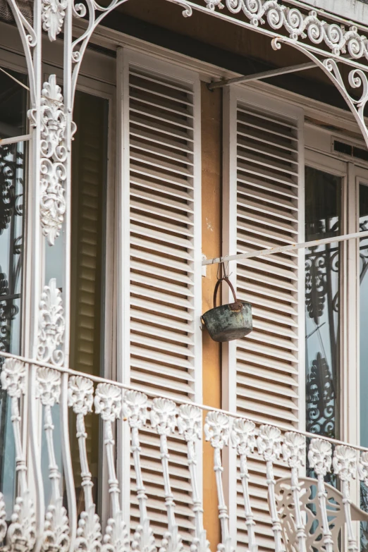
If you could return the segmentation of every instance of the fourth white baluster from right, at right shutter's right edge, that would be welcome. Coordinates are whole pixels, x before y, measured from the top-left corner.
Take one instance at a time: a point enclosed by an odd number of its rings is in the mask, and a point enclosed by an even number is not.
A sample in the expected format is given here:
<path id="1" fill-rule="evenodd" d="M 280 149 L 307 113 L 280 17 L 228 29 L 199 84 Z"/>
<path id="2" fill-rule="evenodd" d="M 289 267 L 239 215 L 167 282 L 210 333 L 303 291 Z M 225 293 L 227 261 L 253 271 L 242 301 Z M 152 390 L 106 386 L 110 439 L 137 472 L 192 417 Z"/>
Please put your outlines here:
<path id="1" fill-rule="evenodd" d="M 288 467 L 291 469 L 291 492 L 294 499 L 295 510 L 295 526 L 297 530 L 296 537 L 298 539 L 299 552 L 306 552 L 305 524 L 302 520 L 302 512 L 300 510 L 300 484 L 299 484 L 299 468 L 305 465 L 305 436 L 295 431 L 287 431 L 283 439 L 283 459 L 288 462 Z"/>

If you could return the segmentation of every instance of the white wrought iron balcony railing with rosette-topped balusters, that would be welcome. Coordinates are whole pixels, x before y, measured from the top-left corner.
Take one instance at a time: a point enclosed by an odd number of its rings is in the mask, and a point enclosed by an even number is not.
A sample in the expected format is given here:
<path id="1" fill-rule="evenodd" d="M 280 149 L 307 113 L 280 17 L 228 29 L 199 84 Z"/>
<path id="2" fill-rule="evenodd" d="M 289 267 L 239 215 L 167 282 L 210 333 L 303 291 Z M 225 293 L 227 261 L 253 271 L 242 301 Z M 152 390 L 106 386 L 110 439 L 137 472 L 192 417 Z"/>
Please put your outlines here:
<path id="1" fill-rule="evenodd" d="M 348 552 L 357 551 L 359 525 L 367 522 L 365 514 L 352 501 L 354 480 L 364 489 L 368 485 L 368 449 L 350 446 L 329 438 L 319 438 L 300 431 L 284 431 L 274 426 L 259 424 L 257 420 L 246 419 L 223 410 L 210 410 L 203 405 L 175 403 L 166 397 L 128 388 L 114 381 L 95 376 L 86 376 L 62 367 L 51 367 L 47 363 L 28 364 L 22 357 L 7 355 L 1 370 L 1 386 L 11 401 L 11 422 L 16 448 L 16 472 L 18 474 L 17 496 L 13 511 L 6 513 L 3 496 L 0 494 L 0 544 L 3 551 L 94 551 L 94 552 L 180 552 L 190 545 L 191 552 L 206 552 L 210 549 L 231 552 L 236 547 L 236 534 L 229 529 L 228 505 L 224 492 L 223 456 L 226 450 L 233 450 L 238 470 L 228 474 L 228 479 L 240 482 L 244 515 L 243 531 L 247 534 L 247 548 L 256 552 L 257 520 L 254 517 L 250 493 L 251 474 L 249 462 L 256 460 L 264 465 L 264 484 L 267 489 L 269 522 L 274 535 L 274 550 L 285 549 L 305 552 L 323 549 L 332 552 L 341 547 Z M 43 365 L 42 365 L 43 364 Z M 32 382 L 32 370 L 35 381 Z M 29 390 L 35 389 L 30 396 Z M 28 394 L 28 395 L 27 395 Z M 26 400 L 25 400 L 26 399 Z M 68 508 L 61 493 L 61 479 L 73 480 L 71 463 L 56 462 L 56 439 L 61 438 L 63 458 L 70 458 L 68 431 L 56 429 L 53 407 L 60 403 L 61 410 L 75 413 L 76 436 L 84 510 L 78 516 L 75 492 L 68 494 Z M 39 428 L 25 424 L 37 419 L 30 409 L 41 411 Z M 85 417 L 94 412 L 103 427 L 103 448 L 108 477 L 109 517 L 103 525 L 97 513 L 92 495 L 92 476 L 89 467 L 86 440 Z M 207 411 L 207 412 L 206 412 Z M 130 451 L 116 443 L 116 422 L 126 424 L 130 429 Z M 42 422 L 42 423 L 41 423 Z M 204 422 L 204 423 L 203 423 Z M 65 424 L 65 417 L 61 417 Z M 202 426 L 203 424 L 203 426 Z M 152 527 L 147 510 L 147 494 L 142 475 L 141 443 L 142 431 L 149 428 L 157 435 L 157 448 L 161 461 L 166 508 L 165 530 L 161 543 Z M 48 477 L 51 498 L 43 505 L 43 491 L 37 473 L 41 470 L 40 454 L 29 460 L 27 450 L 32 439 L 32 450 L 39 450 L 42 432 L 47 443 Z M 188 458 L 188 481 L 190 482 L 190 504 L 194 529 L 189 538 L 179 530 L 176 520 L 176 505 L 171 491 L 171 464 L 169 463 L 168 441 L 173 436 L 183 438 Z M 207 540 L 203 523 L 201 481 L 197 473 L 198 443 L 202 436 L 211 443 L 214 451 L 214 472 L 218 496 L 221 542 Z M 135 472 L 134 492 L 139 508 L 139 522 L 130 527 L 125 520 L 121 501 L 121 482 L 118 481 L 116 463 L 119 455 L 131 454 Z M 305 477 L 305 465 L 312 477 Z M 275 476 L 275 465 L 283 465 L 284 477 Z M 262 472 L 262 470 L 261 470 Z M 331 474 L 333 485 L 327 484 L 326 476 Z M 355 485 L 359 489 L 359 485 Z M 133 487 L 132 487 L 133 489 Z M 340 491 L 338 489 L 341 489 Z M 1 491 L 1 489 L 0 489 Z M 42 496 L 39 496 L 42 493 Z M 355 500 L 359 501 L 355 496 Z M 129 508 L 128 508 L 129 510 Z M 8 515 L 7 515 L 8 514 Z M 9 515 L 10 514 L 10 515 Z M 7 521 L 8 520 L 8 521 Z M 343 532 L 341 533 L 341 529 Z"/>

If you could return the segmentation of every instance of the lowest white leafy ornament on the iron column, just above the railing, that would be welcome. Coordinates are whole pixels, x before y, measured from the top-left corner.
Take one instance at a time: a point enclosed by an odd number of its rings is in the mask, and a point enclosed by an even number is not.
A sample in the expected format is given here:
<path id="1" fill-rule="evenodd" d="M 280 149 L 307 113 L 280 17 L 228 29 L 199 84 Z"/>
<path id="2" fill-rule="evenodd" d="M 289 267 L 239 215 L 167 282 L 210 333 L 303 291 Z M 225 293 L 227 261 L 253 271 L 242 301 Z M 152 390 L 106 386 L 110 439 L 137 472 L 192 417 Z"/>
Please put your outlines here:
<path id="1" fill-rule="evenodd" d="M 51 278 L 49 286 L 44 286 L 39 302 L 37 359 L 53 364 L 63 364 L 63 343 L 65 320 L 61 293 L 56 288 L 56 278 Z"/>

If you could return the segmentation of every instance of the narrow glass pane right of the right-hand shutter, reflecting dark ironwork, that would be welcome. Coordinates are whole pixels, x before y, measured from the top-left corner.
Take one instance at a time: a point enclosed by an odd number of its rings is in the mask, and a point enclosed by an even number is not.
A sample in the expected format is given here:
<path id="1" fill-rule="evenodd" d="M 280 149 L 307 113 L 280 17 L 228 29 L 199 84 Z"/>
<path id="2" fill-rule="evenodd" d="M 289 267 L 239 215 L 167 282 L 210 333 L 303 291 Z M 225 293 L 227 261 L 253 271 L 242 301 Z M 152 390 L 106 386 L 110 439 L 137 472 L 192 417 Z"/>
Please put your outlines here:
<path id="1" fill-rule="evenodd" d="M 305 169 L 305 240 L 341 233 L 341 178 Z M 339 436 L 340 247 L 305 250 L 307 431 Z"/>

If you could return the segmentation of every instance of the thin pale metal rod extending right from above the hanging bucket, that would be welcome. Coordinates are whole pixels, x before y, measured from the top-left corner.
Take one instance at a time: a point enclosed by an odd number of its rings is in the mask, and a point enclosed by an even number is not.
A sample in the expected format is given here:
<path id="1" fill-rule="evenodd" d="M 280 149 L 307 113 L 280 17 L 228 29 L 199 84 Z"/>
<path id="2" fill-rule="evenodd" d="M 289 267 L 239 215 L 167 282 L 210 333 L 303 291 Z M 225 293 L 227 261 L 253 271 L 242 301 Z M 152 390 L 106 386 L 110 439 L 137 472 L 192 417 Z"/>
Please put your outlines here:
<path id="1" fill-rule="evenodd" d="M 230 261 L 239 261 L 241 259 L 253 259 L 254 257 L 264 257 L 266 255 L 273 255 L 276 253 L 283 253 L 288 251 L 294 251 L 298 249 L 306 249 L 307 247 L 315 247 L 316 245 L 324 245 L 325 243 L 344 242 L 347 240 L 353 240 L 355 238 L 368 238 L 368 231 L 365 232 L 353 232 L 350 234 L 336 235 L 331 238 L 323 238 L 321 240 L 312 240 L 303 243 L 291 243 L 290 245 L 280 245 L 278 247 L 268 247 L 259 251 L 249 251 L 245 253 L 238 253 L 234 255 L 225 255 L 224 257 L 214 257 L 214 259 L 204 259 L 202 266 L 207 264 L 219 264 Z"/>

